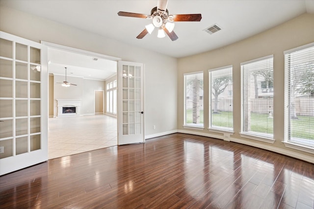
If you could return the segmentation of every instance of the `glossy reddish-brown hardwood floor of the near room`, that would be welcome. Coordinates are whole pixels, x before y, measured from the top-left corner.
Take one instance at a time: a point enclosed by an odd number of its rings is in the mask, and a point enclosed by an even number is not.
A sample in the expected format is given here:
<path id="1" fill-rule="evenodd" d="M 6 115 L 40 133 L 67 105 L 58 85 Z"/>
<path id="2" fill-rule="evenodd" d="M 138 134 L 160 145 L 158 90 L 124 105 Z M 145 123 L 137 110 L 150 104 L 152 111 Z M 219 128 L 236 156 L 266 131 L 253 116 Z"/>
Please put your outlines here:
<path id="1" fill-rule="evenodd" d="M 1 176 L 0 208 L 313 209 L 314 164 L 172 134 Z"/>

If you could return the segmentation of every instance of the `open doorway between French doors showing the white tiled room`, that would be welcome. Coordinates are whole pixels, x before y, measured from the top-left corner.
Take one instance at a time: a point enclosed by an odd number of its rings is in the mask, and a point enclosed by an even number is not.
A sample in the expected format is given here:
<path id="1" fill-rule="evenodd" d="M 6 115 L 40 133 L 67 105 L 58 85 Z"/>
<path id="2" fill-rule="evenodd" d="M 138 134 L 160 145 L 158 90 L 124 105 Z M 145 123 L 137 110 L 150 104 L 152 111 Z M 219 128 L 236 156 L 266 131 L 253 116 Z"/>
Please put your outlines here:
<path id="1" fill-rule="evenodd" d="M 48 46 L 49 133 L 48 158 L 117 145 L 117 118 L 105 115 L 105 87 L 117 76 L 119 58 L 43 43 Z M 65 79 L 77 86 L 59 85 Z M 80 114 L 58 115 L 57 99 L 80 100 Z"/>

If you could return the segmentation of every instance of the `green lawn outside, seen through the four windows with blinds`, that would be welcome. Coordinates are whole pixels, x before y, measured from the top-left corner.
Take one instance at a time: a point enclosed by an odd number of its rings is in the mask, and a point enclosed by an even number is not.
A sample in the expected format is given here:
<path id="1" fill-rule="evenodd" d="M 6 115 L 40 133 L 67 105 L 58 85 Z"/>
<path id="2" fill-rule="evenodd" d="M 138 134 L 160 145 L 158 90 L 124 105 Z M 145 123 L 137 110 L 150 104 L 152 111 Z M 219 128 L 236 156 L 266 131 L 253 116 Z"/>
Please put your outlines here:
<path id="1" fill-rule="evenodd" d="M 203 111 L 201 111 L 200 123 L 204 123 Z M 228 119 L 229 118 L 229 119 Z M 192 111 L 187 112 L 187 123 L 192 123 Z M 267 123 L 269 126 L 267 127 Z M 259 133 L 273 133 L 273 118 L 268 114 L 251 114 L 251 127 L 250 131 Z M 212 114 L 212 125 L 218 127 L 233 126 L 233 115 L 231 112 L 220 112 Z M 293 127 L 299 129 L 293 131 Z M 298 119 L 291 120 L 291 137 L 301 139 L 314 140 L 314 116 L 298 116 Z"/>

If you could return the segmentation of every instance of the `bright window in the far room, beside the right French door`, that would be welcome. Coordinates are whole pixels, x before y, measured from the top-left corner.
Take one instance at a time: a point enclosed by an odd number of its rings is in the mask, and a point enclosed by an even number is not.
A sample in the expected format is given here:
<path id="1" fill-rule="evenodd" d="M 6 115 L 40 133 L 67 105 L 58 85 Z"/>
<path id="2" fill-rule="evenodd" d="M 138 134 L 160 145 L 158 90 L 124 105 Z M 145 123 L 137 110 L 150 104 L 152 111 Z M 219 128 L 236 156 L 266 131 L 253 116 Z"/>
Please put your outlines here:
<path id="1" fill-rule="evenodd" d="M 117 114 L 117 80 L 114 80 L 106 86 L 106 112 L 116 115 Z"/>

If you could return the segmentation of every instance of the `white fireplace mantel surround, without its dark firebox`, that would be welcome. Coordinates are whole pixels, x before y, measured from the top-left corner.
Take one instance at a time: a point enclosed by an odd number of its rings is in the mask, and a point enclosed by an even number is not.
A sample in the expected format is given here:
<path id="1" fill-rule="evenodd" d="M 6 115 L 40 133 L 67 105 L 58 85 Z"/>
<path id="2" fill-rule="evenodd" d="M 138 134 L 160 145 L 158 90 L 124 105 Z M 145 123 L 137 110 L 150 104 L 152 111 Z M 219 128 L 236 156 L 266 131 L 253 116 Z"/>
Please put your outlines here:
<path id="1" fill-rule="evenodd" d="M 80 115 L 80 103 L 81 99 L 55 99 L 57 101 L 57 117 L 73 117 Z M 63 107 L 75 107 L 76 113 L 63 113 Z"/>

